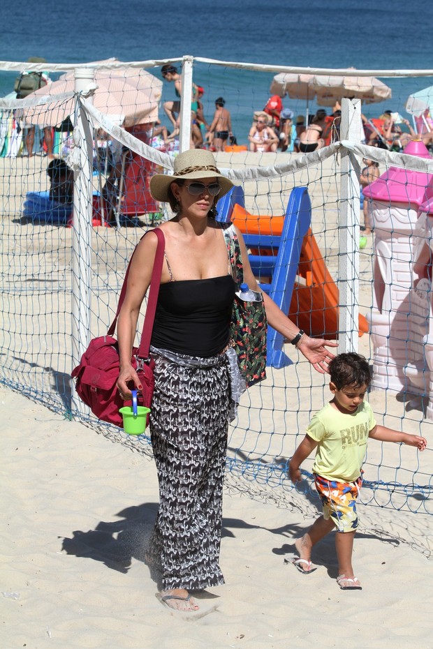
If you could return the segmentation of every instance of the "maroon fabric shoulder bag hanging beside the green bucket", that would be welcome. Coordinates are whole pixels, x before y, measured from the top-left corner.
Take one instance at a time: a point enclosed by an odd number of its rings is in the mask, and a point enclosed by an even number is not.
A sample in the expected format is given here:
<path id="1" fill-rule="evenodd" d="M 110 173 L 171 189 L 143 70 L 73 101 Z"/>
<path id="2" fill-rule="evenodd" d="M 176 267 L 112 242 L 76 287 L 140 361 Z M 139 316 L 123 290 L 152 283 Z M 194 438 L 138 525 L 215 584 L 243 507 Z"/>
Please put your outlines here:
<path id="1" fill-rule="evenodd" d="M 159 228 L 153 230 L 158 237 L 158 248 L 152 279 L 150 282 L 149 299 L 147 301 L 145 322 L 143 324 L 140 347 L 133 348 L 131 364 L 138 373 L 138 378 L 142 384 L 140 391 L 142 405 L 150 408 L 152 396 L 154 393 L 154 361 L 149 357 L 150 338 L 152 336 L 152 327 L 156 311 L 156 302 L 158 300 L 159 284 L 161 281 L 161 270 L 164 256 L 164 235 Z M 132 261 L 133 255 L 131 256 Z M 71 374 L 75 379 L 75 391 L 86 405 L 89 406 L 98 419 L 109 424 L 115 424 L 122 428 L 123 419 L 119 413 L 125 403 L 117 389 L 117 379 L 119 378 L 119 345 L 117 340 L 112 337 L 114 334 L 117 318 L 126 295 L 126 285 L 128 281 L 131 261 L 126 271 L 122 292 L 119 297 L 119 304 L 115 319 L 113 320 L 108 334 L 94 338 L 85 353 L 82 355 L 80 364 L 73 369 Z M 129 402 L 126 402 L 127 404 Z"/>

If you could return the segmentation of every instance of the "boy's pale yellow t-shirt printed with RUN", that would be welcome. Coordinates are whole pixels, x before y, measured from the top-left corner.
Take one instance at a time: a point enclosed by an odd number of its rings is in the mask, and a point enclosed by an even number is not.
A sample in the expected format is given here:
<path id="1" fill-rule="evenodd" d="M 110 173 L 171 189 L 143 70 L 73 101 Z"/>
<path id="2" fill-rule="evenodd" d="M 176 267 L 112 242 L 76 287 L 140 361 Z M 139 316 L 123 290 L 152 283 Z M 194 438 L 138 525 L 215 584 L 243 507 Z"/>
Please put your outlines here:
<path id="1" fill-rule="evenodd" d="M 367 401 L 350 414 L 327 403 L 307 427 L 307 435 L 318 442 L 313 472 L 337 482 L 358 479 L 374 426 L 374 414 Z"/>

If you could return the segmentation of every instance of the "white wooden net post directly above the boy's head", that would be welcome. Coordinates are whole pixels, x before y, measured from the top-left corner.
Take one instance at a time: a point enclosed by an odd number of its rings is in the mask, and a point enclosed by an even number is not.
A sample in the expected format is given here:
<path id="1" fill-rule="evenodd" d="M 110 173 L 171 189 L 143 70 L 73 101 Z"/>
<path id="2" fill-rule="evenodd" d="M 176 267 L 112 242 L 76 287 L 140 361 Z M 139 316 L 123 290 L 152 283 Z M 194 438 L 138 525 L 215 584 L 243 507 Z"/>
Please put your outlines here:
<path id="1" fill-rule="evenodd" d="M 360 99 L 342 99 L 341 140 L 359 144 L 362 130 Z M 342 149 L 339 227 L 339 352 L 358 352 L 360 183 L 355 157 Z M 358 163 L 359 170 L 359 163 Z"/>

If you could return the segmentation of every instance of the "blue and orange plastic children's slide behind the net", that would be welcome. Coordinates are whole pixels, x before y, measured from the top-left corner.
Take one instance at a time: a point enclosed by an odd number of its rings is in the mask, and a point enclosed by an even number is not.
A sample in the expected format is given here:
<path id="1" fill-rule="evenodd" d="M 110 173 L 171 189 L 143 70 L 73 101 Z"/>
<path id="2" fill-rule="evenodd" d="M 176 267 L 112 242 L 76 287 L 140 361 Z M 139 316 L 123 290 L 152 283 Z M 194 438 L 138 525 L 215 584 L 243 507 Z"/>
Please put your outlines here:
<path id="1" fill-rule="evenodd" d="M 339 290 L 311 232 L 307 188 L 293 188 L 284 216 L 249 214 L 230 192 L 223 199 L 217 206 L 219 221 L 233 221 L 239 227 L 260 288 L 309 336 L 337 339 Z M 363 315 L 358 327 L 360 336 L 368 331 Z M 284 337 L 269 327 L 267 365 L 281 368 L 291 364 L 283 351 L 284 342 Z"/>

